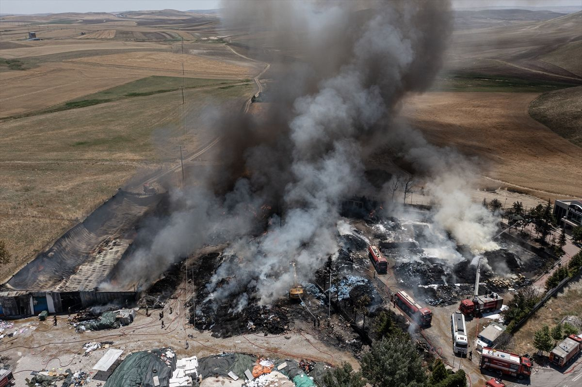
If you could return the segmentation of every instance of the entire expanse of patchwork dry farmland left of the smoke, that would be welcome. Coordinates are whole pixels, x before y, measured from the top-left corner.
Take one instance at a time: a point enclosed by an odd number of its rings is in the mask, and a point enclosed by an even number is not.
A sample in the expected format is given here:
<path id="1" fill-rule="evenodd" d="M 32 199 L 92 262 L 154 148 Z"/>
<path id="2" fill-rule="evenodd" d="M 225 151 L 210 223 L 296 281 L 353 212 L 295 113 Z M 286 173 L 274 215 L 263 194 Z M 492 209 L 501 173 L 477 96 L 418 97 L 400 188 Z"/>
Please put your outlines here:
<path id="1" fill-rule="evenodd" d="M 0 130 L 0 239 L 13 256 L 11 264 L 0 267 L 0 277 L 50 245 L 125 182 L 139 186 L 144 175 L 174 166 L 176 145 L 185 145 L 187 155 L 207 144 L 214 137 L 217 109 L 240 109 L 253 94 L 250 81 L 225 85 L 221 80 L 253 78 L 262 64 L 216 42 L 196 43 L 210 34 L 206 16 L 186 16 L 200 17 L 198 32 L 194 24 L 187 31 L 179 31 L 175 22 L 164 26 L 164 19 L 184 16 L 165 12 L 155 20 L 150 13 L 132 15 L 72 13 L 0 21 L 0 57 L 17 59 L 26 69 L 6 64 L 0 69 L 0 117 L 20 116 L 3 120 Z M 66 23 L 55 24 L 59 20 Z M 31 30 L 42 40 L 23 40 Z M 182 55 L 180 37 L 201 48 L 200 55 L 189 47 Z M 164 87 L 146 90 L 153 95 L 42 112 L 141 78 L 181 78 L 182 63 L 187 78 L 204 78 L 192 82 L 200 87 L 186 89 L 187 116 L 192 117 L 186 119 L 186 130 L 178 93 L 159 92 Z M 171 80 L 158 82 L 175 87 Z M 136 176 L 142 179 L 133 181 Z"/>

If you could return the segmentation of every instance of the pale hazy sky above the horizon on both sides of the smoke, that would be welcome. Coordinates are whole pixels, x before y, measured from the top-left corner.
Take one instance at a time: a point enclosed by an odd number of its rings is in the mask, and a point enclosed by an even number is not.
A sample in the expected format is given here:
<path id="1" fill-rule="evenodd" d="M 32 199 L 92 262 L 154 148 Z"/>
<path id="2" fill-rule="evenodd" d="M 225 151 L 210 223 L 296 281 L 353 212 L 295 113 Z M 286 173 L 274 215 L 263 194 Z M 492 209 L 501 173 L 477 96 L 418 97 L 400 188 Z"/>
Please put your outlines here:
<path id="1" fill-rule="evenodd" d="M 455 8 L 562 5 L 579 6 L 580 0 L 453 0 Z M 166 8 L 187 10 L 215 9 L 219 6 L 219 0 L 0 0 L 0 13 L 116 12 Z"/>

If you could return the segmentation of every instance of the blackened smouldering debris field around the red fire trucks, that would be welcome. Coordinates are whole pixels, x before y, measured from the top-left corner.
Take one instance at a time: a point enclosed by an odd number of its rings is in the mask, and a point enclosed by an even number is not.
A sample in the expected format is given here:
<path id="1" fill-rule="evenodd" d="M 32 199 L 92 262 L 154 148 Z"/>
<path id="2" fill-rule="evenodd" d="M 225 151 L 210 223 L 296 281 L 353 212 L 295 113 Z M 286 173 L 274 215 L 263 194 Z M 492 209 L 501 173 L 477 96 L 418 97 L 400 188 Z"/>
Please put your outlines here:
<path id="1" fill-rule="evenodd" d="M 405 290 L 430 306 L 455 304 L 472 295 L 475 253 L 455 245 L 452 239 L 440 244 L 428 241 L 427 229 L 431 227 L 424 215 L 418 220 L 374 214 L 345 217 L 338 223 L 338 251 L 322 260 L 310 277 L 299 275 L 303 296 L 294 300 L 285 293 L 268 304 L 261 303 L 257 295 L 258 271 L 242 265 L 228 244 L 208 246 L 173 264 L 142 292 L 139 306 L 163 308 L 188 289 L 187 321 L 195 330 L 210 331 L 215 338 L 285 335 L 300 329 L 315 332 L 323 342 L 359 353 L 374 335 L 367 322 L 366 329 L 361 329 L 364 318 L 372 321 L 384 311 L 407 330 L 406 318 L 391 309 L 393 293 Z M 388 274 L 375 271 L 368 253 L 370 245 L 379 246 L 388 260 Z M 541 273 L 545 265 L 540 257 L 502 241 L 498 249 L 481 255 L 485 261 L 481 292 L 485 293 L 505 293 L 530 285 L 530 278 Z M 222 270 L 232 274 L 217 279 Z M 274 271 L 270 280 L 276 284 L 285 274 Z M 292 287 L 292 281 L 285 286 Z M 222 292 L 229 296 L 223 297 Z M 324 329 L 328 327 L 331 329 Z"/>

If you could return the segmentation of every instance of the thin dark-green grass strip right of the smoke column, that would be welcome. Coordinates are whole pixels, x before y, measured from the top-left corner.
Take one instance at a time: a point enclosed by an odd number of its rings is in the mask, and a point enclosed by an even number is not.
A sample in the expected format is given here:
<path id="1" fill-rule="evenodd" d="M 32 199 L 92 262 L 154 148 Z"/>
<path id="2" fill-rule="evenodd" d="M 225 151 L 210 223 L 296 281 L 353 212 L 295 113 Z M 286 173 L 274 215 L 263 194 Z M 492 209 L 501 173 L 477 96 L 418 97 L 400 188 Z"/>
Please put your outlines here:
<path id="1" fill-rule="evenodd" d="M 524 93 L 552 91 L 577 85 L 518 77 L 485 76 L 483 74 L 445 74 L 437 78 L 431 91 Z"/>

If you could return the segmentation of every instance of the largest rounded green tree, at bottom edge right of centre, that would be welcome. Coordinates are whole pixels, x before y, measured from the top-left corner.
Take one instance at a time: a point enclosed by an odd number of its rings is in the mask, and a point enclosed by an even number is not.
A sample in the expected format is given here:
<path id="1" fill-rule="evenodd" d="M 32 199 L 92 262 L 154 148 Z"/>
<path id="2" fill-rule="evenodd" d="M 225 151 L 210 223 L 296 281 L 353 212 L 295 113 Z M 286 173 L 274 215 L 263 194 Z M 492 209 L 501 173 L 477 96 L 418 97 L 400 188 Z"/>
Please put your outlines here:
<path id="1" fill-rule="evenodd" d="M 361 360 L 362 372 L 373 387 L 424 387 L 426 374 L 410 339 L 382 339 Z"/>

